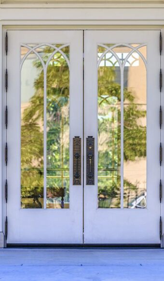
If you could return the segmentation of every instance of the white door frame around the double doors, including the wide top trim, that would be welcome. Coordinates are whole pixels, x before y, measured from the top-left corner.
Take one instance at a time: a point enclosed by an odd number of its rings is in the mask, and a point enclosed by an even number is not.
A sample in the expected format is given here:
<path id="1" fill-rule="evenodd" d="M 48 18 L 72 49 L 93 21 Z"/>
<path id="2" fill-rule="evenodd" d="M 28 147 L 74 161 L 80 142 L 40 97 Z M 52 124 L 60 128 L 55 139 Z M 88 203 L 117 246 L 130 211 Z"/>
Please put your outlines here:
<path id="1" fill-rule="evenodd" d="M 134 4 L 133 4 L 134 5 Z M 146 4 L 147 6 L 133 6 L 128 7 L 127 4 L 121 6 L 112 7 L 100 7 L 96 8 L 75 8 L 67 9 L 65 4 L 63 7 L 55 8 L 49 6 L 51 9 L 47 9 L 47 6 L 42 4 L 39 6 L 39 12 L 36 13 L 36 7 L 27 9 L 26 6 L 21 4 L 14 5 L 1 5 L 0 4 L 0 44 L 4 47 L 4 34 L 5 29 L 161 29 L 164 40 L 164 4 Z M 14 8 L 15 7 L 15 8 Z M 146 8 L 147 7 L 147 8 Z M 122 9 L 123 8 L 123 9 Z M 126 8 L 126 9 L 125 9 Z M 48 16 L 47 16 L 48 15 Z M 121 15 L 121 16 L 120 16 Z M 78 18 L 78 20 L 77 20 Z M 10 20 L 9 20 L 10 19 Z M 164 45 L 164 44 L 163 44 Z M 4 73 L 2 66 L 2 58 L 4 57 L 4 51 L 0 53 L 0 76 Z M 162 53 L 162 69 L 164 68 L 164 51 Z M 0 79 L 0 88 L 3 90 L 2 79 Z M 164 91 L 164 90 L 163 90 Z M 2 92 L 0 91 L 0 108 L 2 114 L 4 110 L 2 108 Z M 162 105 L 164 108 L 164 98 L 162 99 Z M 2 114 L 0 114 L 0 135 L 4 129 L 2 124 Z M 162 129 L 162 142 L 164 140 L 164 129 Z M 2 200 L 0 200 L 0 248 L 5 246 L 4 229 L 5 229 L 5 200 L 4 200 L 4 181 L 2 177 L 2 165 L 4 159 L 2 157 L 4 152 L 4 143 L 0 138 L 0 194 Z M 158 154 L 158 152 L 157 152 Z M 164 179 L 164 166 L 162 166 L 162 179 Z M 161 205 L 161 214 L 164 217 L 164 199 Z M 164 228 L 163 228 L 164 233 Z M 163 246 L 163 245 L 162 245 Z"/>

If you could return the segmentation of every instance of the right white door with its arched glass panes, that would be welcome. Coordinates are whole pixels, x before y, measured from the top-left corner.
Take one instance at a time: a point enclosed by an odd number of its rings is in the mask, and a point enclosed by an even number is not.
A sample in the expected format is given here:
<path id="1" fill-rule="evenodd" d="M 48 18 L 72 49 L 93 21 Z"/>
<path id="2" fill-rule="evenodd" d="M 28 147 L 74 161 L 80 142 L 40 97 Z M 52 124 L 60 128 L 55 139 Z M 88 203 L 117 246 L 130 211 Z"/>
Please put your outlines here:
<path id="1" fill-rule="evenodd" d="M 158 244 L 160 31 L 84 32 L 84 243 Z"/>

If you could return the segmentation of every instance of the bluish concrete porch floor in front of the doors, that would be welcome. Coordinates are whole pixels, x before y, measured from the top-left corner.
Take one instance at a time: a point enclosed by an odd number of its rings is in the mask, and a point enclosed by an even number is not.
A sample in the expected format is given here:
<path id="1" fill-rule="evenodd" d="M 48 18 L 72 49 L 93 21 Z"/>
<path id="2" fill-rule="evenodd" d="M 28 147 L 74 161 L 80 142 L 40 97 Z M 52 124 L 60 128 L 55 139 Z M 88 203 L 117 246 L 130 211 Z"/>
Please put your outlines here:
<path id="1" fill-rule="evenodd" d="M 2 281 L 164 281 L 163 249 L 0 249 Z"/>

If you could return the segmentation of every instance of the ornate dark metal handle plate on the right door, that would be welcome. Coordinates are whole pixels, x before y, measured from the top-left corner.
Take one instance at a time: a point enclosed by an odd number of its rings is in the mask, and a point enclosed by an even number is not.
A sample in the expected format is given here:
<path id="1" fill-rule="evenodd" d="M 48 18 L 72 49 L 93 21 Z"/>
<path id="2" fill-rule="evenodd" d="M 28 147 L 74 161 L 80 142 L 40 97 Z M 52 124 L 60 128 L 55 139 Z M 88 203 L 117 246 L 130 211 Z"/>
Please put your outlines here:
<path id="1" fill-rule="evenodd" d="M 95 138 L 86 138 L 86 185 L 95 185 Z"/>

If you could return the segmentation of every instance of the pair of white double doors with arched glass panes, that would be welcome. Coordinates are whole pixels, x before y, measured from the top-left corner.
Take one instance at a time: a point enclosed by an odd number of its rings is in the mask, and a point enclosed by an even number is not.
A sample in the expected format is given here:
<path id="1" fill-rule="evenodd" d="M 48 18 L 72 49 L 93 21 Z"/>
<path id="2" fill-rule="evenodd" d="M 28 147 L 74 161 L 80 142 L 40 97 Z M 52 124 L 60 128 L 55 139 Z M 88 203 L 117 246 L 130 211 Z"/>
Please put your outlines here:
<path id="1" fill-rule="evenodd" d="M 9 30 L 4 68 L 7 243 L 159 244 L 159 31 Z"/>

